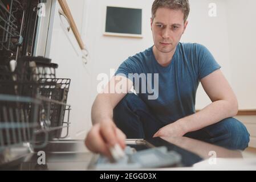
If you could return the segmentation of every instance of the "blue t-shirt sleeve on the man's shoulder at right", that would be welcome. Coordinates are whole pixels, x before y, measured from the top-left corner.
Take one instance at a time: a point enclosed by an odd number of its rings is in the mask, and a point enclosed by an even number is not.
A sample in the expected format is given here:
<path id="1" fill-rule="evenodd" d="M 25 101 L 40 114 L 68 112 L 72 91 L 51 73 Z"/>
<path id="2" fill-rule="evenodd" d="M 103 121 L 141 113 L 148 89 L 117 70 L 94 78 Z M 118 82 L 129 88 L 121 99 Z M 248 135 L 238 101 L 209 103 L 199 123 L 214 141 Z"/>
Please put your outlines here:
<path id="1" fill-rule="evenodd" d="M 220 69 L 221 66 L 214 59 L 212 53 L 201 44 L 197 44 L 197 63 L 198 63 L 198 78 L 208 76 L 210 73 Z"/>

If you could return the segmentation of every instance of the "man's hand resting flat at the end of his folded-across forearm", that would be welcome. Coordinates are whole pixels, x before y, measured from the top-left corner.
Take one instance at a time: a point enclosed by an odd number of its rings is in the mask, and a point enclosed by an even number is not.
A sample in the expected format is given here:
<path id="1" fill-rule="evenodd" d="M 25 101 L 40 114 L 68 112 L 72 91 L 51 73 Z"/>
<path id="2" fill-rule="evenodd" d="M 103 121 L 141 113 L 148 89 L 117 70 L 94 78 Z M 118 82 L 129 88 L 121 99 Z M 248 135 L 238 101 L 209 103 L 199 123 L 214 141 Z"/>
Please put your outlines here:
<path id="1" fill-rule="evenodd" d="M 186 132 L 180 121 L 176 121 L 159 129 L 153 137 L 182 137 Z"/>

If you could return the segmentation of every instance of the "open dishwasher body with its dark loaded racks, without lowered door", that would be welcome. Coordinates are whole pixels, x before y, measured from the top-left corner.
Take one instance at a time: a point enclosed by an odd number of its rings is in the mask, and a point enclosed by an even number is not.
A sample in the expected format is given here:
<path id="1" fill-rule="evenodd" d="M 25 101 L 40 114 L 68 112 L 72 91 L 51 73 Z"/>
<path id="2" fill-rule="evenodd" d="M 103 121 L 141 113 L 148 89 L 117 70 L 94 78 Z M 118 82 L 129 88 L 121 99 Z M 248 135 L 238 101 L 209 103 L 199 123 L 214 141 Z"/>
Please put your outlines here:
<path id="1" fill-rule="evenodd" d="M 56 77 L 51 59 L 33 56 L 43 2 L 0 1 L 0 169 L 68 136 L 71 80 Z"/>

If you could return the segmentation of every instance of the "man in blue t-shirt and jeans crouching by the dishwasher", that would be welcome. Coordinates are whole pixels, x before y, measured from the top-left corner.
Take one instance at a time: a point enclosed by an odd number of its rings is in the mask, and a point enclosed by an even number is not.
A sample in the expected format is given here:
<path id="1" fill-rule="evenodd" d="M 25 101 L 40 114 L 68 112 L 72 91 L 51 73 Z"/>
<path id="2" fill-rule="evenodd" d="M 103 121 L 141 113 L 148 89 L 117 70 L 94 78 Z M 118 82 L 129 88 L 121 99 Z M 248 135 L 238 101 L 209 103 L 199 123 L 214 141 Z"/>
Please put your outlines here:
<path id="1" fill-rule="evenodd" d="M 125 60 L 105 88 L 123 84 L 121 93 L 100 93 L 92 106 L 94 126 L 86 146 L 109 156 L 109 146 L 125 147 L 127 138 L 190 137 L 227 148 L 244 150 L 249 143 L 246 127 L 237 119 L 238 103 L 220 65 L 200 44 L 180 43 L 188 25 L 188 0 L 156 0 L 152 5 L 154 46 Z M 137 96 L 129 74 L 158 73 L 158 97 Z M 146 85 L 152 80 L 143 80 Z M 199 82 L 212 103 L 195 113 Z M 157 86 L 157 88 L 156 88 Z M 128 94 L 127 94 L 128 93 Z"/>

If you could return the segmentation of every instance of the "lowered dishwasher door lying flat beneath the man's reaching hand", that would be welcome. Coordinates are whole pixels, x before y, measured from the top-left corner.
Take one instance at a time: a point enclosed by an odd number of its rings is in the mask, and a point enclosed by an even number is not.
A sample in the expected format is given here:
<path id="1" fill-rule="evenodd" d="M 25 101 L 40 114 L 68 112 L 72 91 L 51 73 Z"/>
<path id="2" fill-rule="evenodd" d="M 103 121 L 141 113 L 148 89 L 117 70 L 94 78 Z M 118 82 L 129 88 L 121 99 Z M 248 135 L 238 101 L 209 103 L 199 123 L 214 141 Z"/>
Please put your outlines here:
<path id="1" fill-rule="evenodd" d="M 125 157 L 118 162 L 86 150 L 83 140 L 53 140 L 43 148 L 47 158 L 38 164 L 35 152 L 24 156 L 13 170 L 131 171 L 191 167 L 202 157 L 161 138 L 126 139 Z"/>

